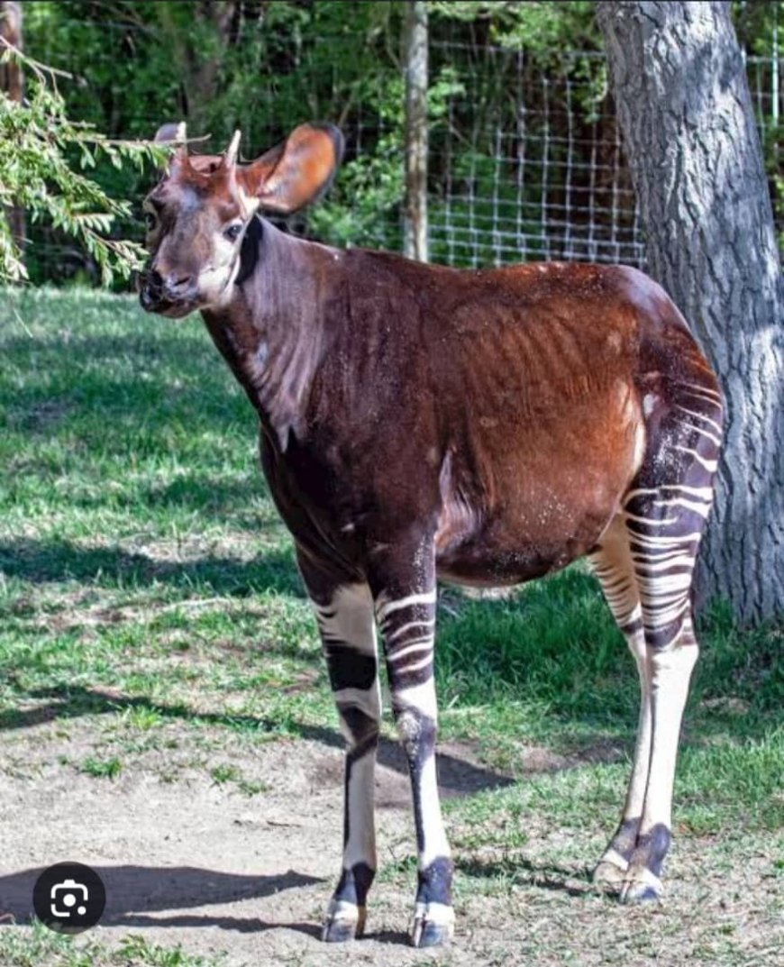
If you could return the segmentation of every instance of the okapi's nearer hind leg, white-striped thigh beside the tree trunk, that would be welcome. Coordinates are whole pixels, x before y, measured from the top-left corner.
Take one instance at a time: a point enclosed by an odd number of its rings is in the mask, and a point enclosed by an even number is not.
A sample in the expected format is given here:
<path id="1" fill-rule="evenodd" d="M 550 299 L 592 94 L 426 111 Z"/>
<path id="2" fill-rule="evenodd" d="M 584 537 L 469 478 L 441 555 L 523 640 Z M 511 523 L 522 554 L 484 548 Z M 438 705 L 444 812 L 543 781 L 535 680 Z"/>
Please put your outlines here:
<path id="1" fill-rule="evenodd" d="M 688 383 L 667 390 L 667 404 L 656 414 L 643 466 L 624 502 L 651 676 L 651 761 L 624 902 L 657 899 L 662 892 L 681 721 L 699 653 L 691 586 L 721 441 L 715 390 Z"/>

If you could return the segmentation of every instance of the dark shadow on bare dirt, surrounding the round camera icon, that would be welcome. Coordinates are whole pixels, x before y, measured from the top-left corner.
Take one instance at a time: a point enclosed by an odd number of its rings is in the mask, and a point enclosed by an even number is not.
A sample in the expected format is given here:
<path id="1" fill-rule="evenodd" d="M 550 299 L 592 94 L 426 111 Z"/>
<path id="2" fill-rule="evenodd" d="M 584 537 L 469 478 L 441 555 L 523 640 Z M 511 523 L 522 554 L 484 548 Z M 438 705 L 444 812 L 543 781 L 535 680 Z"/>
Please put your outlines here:
<path id="1" fill-rule="evenodd" d="M 0 876 L 0 917 L 30 923 L 33 887 L 45 867 Z M 276 928 L 318 935 L 314 923 L 265 923 L 255 917 L 200 914 L 149 916 L 157 911 L 188 910 L 224 903 L 260 899 L 283 890 L 324 883 L 318 876 L 288 870 L 268 876 L 227 873 L 195 866 L 94 866 L 106 888 L 103 926 L 218 926 L 241 932 Z"/>

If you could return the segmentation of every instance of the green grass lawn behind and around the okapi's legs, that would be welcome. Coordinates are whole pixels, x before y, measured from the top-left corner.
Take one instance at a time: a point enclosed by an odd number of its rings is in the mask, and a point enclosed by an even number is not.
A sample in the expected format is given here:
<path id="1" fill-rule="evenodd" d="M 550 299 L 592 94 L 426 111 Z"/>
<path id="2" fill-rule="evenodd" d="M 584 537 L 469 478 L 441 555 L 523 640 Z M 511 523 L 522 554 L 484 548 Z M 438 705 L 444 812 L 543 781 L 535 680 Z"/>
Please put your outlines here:
<path id="1" fill-rule="evenodd" d="M 0 344 L 0 728 L 54 722 L 68 736 L 91 722 L 91 746 L 59 768 L 97 782 L 195 772 L 263 797 L 235 752 L 337 722 L 245 396 L 196 320 L 146 317 L 131 299 L 6 292 Z M 782 824 L 782 634 L 742 632 L 719 608 L 701 640 L 676 829 L 732 856 Z M 637 684 L 593 579 L 578 566 L 503 601 L 444 589 L 437 656 L 442 738 L 522 779 L 449 804 L 461 889 L 546 877 L 558 851 L 538 871 L 521 851 L 552 817 L 599 848 L 623 798 Z M 532 749 L 572 768 L 528 775 Z M 13 754 L 0 768 L 37 775 Z M 406 856 L 383 875 L 408 872 Z M 197 962 L 141 943 L 89 960 L 62 938 L 3 931 L 0 962 Z"/>

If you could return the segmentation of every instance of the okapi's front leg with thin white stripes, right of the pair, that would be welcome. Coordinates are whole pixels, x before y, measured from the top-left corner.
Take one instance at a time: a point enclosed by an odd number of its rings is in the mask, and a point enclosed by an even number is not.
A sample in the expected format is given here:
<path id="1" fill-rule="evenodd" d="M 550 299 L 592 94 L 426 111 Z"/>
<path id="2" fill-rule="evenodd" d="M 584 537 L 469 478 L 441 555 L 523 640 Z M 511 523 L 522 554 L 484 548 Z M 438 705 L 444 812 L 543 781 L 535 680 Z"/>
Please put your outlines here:
<path id="1" fill-rule="evenodd" d="M 376 619 L 384 642 L 392 712 L 408 760 L 414 802 L 418 885 L 411 941 L 415 947 L 443 944 L 454 928 L 450 845 L 436 779 L 435 612 L 432 571 L 428 571 L 424 581 L 388 581 L 376 596 Z"/>

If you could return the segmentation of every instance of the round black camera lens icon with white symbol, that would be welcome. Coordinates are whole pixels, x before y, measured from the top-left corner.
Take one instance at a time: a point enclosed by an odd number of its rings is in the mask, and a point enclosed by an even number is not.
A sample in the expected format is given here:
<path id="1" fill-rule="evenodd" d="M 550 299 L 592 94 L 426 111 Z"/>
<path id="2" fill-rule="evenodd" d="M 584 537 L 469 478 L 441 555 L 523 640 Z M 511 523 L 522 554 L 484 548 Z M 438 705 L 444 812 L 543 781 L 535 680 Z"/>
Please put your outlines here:
<path id="1" fill-rule="evenodd" d="M 101 920 L 106 890 L 98 873 L 81 863 L 58 863 L 33 889 L 36 917 L 58 933 L 81 933 Z"/>

